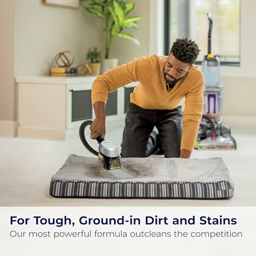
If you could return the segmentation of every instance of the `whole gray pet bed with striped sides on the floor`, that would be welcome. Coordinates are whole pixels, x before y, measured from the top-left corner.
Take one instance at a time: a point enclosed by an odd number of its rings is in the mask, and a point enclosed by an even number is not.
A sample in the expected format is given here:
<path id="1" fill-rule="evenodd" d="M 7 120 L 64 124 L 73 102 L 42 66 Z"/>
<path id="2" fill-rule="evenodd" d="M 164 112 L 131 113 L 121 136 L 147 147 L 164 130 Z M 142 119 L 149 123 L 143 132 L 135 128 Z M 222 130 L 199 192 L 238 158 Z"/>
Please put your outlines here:
<path id="1" fill-rule="evenodd" d="M 50 195 L 82 198 L 222 199 L 233 183 L 222 158 L 121 158 L 105 170 L 97 158 L 70 155 L 52 176 Z"/>

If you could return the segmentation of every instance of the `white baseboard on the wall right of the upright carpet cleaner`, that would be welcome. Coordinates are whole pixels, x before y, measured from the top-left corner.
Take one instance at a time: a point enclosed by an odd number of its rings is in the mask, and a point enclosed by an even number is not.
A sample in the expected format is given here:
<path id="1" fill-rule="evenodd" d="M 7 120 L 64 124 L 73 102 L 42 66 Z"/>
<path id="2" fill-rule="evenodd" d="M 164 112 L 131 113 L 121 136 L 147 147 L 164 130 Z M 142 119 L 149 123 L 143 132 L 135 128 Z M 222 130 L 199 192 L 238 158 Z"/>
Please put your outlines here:
<path id="1" fill-rule="evenodd" d="M 254 116 L 223 116 L 223 122 L 231 127 L 256 129 L 256 117 Z"/>

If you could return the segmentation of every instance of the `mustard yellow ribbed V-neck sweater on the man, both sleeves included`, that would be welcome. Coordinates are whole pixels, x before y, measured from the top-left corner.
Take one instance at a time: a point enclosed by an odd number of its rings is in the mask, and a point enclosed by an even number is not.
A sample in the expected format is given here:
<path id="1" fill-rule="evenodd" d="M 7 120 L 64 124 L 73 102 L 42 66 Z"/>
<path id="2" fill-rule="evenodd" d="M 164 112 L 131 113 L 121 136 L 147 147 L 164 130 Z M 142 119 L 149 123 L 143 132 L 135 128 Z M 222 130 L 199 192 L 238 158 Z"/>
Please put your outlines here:
<path id="1" fill-rule="evenodd" d="M 164 80 L 166 58 L 157 55 L 141 57 L 98 76 L 92 86 L 92 103 L 106 103 L 109 92 L 133 81 L 139 83 L 130 100 L 143 109 L 172 110 L 180 106 L 185 97 L 181 149 L 193 151 L 202 117 L 204 77 L 197 66 L 193 66 L 167 92 Z"/>

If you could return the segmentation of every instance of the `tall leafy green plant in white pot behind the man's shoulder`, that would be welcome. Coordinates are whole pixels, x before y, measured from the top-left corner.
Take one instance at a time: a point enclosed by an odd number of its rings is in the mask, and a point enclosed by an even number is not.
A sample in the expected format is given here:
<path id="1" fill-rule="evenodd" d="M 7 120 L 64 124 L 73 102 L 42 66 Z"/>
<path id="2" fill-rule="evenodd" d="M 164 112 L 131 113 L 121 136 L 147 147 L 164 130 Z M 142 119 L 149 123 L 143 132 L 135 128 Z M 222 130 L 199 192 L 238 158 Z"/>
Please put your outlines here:
<path id="1" fill-rule="evenodd" d="M 116 37 L 122 37 L 125 39 L 132 40 L 135 44 L 140 45 L 139 40 L 136 39 L 133 35 L 123 33 L 124 28 L 138 28 L 137 20 L 141 19 L 141 16 L 131 16 L 127 15 L 134 9 L 135 4 L 125 3 L 120 0 L 80 0 L 83 7 L 88 12 L 97 15 L 99 18 L 104 19 L 104 28 L 105 32 L 105 59 L 102 61 L 102 70 L 103 73 L 105 70 L 113 68 L 110 60 L 110 50 L 112 43 Z M 87 4 L 87 5 L 86 5 Z M 106 63 L 106 67 L 105 66 Z"/>

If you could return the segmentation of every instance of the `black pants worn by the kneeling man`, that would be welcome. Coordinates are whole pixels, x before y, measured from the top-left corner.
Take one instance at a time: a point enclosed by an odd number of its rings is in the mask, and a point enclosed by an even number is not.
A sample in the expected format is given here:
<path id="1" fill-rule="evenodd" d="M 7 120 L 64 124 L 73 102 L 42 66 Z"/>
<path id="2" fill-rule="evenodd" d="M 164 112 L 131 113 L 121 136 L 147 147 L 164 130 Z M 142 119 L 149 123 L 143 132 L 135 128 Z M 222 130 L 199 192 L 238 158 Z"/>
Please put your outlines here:
<path id="1" fill-rule="evenodd" d="M 182 134 L 181 106 L 174 110 L 146 110 L 130 103 L 125 118 L 122 157 L 147 157 L 154 151 L 156 141 L 150 134 L 157 127 L 165 157 L 180 157 Z"/>

